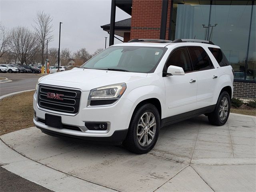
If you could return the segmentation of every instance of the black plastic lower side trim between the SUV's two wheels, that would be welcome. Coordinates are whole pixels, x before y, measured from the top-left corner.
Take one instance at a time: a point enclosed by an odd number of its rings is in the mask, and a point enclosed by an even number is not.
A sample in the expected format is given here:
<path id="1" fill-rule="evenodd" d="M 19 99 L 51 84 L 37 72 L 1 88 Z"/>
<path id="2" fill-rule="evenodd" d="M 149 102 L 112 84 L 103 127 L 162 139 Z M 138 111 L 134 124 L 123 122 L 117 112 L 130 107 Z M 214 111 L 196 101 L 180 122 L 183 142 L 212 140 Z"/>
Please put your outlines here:
<path id="1" fill-rule="evenodd" d="M 174 123 L 186 120 L 186 119 L 190 119 L 190 118 L 198 116 L 198 115 L 213 112 L 214 109 L 215 109 L 215 105 L 211 105 L 208 107 L 192 110 L 192 111 L 185 112 L 182 114 L 166 117 L 166 118 L 162 119 L 161 127 L 164 127 L 164 126 L 167 126 L 170 124 L 174 124 Z"/>

